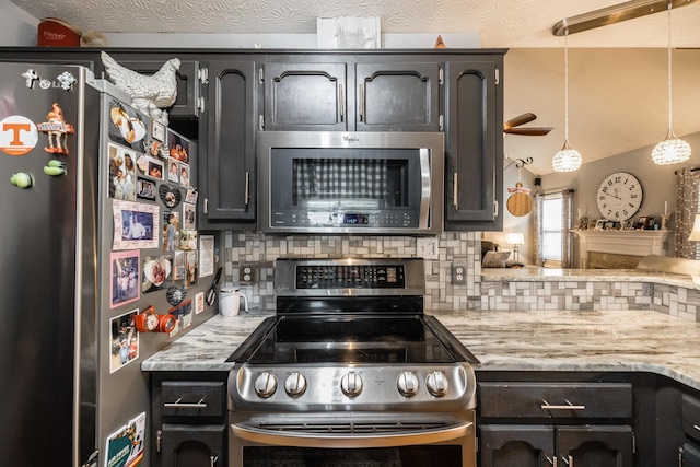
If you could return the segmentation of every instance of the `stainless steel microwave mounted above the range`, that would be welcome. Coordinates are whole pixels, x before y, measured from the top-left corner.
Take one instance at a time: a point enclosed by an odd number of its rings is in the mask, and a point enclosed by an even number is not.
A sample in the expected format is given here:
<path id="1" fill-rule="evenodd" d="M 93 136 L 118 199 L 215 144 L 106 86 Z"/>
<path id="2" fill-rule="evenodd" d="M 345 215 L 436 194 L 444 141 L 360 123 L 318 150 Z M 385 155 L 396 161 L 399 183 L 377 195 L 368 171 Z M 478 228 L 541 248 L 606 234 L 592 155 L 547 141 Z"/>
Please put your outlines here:
<path id="1" fill-rule="evenodd" d="M 444 159 L 441 132 L 261 131 L 258 227 L 438 234 Z"/>

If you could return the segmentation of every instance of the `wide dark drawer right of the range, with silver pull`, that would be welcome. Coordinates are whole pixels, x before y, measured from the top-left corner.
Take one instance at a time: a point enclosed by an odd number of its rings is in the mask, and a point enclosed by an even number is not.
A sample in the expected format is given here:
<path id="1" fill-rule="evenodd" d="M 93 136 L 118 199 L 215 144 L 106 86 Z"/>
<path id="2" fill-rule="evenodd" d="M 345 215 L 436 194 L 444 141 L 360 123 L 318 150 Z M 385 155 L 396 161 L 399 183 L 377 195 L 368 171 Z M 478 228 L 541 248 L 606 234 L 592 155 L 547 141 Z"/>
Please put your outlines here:
<path id="1" fill-rule="evenodd" d="M 479 383 L 481 417 L 630 418 L 629 383 Z"/>

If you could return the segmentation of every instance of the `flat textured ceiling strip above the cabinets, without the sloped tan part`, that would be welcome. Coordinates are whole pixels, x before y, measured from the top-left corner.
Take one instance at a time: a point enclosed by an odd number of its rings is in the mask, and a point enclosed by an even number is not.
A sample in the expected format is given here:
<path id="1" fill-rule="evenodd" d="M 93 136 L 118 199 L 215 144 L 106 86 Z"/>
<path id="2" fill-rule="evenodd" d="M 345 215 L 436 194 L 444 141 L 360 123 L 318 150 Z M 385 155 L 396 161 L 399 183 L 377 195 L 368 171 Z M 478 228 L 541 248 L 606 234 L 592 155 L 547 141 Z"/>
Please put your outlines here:
<path id="1" fill-rule="evenodd" d="M 316 17 L 380 16 L 383 33 L 479 33 L 482 47 L 560 47 L 552 26 L 619 1 L 586 0 L 11 0 L 34 17 L 101 33 L 316 32 Z M 678 9 L 677 46 L 700 44 L 700 4 Z M 656 17 L 655 17 L 656 16 Z M 580 33 L 582 47 L 657 47 L 665 21 L 649 15 Z M 571 37 L 574 45 L 573 36 Z"/>

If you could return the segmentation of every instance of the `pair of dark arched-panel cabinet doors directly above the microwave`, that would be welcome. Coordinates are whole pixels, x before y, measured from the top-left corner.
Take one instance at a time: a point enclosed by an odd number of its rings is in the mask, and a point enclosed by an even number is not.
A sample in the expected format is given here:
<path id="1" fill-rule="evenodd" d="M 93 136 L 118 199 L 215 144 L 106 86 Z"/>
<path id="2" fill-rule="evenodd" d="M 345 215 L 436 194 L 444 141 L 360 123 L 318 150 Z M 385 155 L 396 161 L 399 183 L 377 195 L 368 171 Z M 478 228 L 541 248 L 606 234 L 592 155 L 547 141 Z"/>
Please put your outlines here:
<path id="1" fill-rule="evenodd" d="M 441 131 L 439 62 L 342 58 L 307 61 L 300 55 L 265 63 L 260 129 Z"/>

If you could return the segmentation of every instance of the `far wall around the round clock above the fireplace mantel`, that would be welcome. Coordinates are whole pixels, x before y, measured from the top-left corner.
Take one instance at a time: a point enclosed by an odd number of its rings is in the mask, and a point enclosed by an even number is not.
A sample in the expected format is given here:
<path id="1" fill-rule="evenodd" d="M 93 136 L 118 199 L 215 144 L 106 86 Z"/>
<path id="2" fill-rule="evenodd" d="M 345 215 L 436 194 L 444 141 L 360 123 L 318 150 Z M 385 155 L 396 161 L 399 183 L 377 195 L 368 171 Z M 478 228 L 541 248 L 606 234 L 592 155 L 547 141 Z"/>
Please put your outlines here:
<path id="1" fill-rule="evenodd" d="M 664 138 L 666 129 L 658 129 L 660 141 Z M 635 175 L 644 190 L 644 200 L 640 210 L 632 219 L 640 215 L 651 215 L 658 220 L 664 210 L 664 201 L 668 202 L 672 212 L 668 227 L 673 230 L 676 210 L 676 177 L 675 172 L 682 167 L 700 166 L 700 133 L 682 137 L 692 148 L 692 156 L 682 164 L 655 165 L 652 162 L 652 147 L 629 151 L 612 157 L 584 163 L 581 168 L 572 173 L 551 173 L 542 176 L 542 190 L 545 192 L 557 191 L 565 188 L 575 190 L 574 215 L 581 210 L 582 217 L 588 219 L 602 218 L 596 205 L 596 191 L 603 179 L 614 172 L 629 172 Z M 553 154 L 552 154 L 553 155 Z M 582 154 L 586 160 L 586 154 Z M 578 248 L 578 240 L 574 241 Z M 578 249 L 574 249 L 578 252 Z M 666 250 L 667 256 L 673 256 L 673 245 Z M 576 255 L 578 256 L 578 255 Z M 580 265 L 574 264 L 574 267 Z"/>

